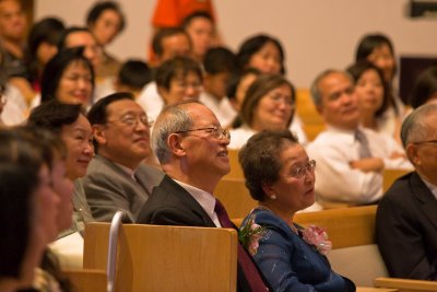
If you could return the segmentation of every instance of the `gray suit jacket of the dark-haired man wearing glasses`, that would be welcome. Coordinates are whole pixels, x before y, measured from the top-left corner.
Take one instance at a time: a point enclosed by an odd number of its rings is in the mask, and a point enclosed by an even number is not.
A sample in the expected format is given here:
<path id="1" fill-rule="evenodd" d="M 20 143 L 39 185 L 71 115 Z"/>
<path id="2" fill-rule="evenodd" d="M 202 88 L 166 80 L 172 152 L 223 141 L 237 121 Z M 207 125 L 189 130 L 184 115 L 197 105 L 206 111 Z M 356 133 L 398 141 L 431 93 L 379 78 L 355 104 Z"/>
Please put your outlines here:
<path id="1" fill-rule="evenodd" d="M 122 210 L 134 222 L 153 187 L 160 184 L 163 176 L 160 170 L 141 164 L 135 172 L 135 182 L 120 166 L 96 155 L 83 178 L 83 188 L 94 219 L 110 222 L 114 214 Z"/>

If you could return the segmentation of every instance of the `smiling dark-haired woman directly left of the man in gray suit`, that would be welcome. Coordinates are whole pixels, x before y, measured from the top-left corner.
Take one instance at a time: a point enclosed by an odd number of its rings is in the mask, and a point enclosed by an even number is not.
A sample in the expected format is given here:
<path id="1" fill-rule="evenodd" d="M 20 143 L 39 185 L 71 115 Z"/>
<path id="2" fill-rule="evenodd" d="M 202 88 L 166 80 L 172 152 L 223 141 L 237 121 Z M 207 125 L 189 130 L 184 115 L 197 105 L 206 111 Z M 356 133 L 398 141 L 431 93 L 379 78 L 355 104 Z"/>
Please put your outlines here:
<path id="1" fill-rule="evenodd" d="M 83 233 L 85 223 L 93 222 L 90 206 L 78 178 L 86 175 L 86 168 L 94 156 L 93 133 L 81 105 L 62 104 L 56 100 L 46 102 L 32 110 L 27 124 L 52 131 L 66 143 L 68 156 L 66 176 L 74 183 L 73 222 L 64 234 Z"/>

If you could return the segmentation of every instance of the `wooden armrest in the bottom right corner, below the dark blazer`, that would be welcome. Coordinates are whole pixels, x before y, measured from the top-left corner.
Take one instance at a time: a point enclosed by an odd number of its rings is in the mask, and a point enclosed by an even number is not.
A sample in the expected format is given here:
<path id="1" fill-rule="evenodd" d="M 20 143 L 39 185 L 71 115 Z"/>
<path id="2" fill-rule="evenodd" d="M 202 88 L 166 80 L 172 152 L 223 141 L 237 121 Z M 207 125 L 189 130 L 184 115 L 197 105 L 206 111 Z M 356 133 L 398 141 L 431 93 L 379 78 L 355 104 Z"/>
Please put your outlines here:
<path id="1" fill-rule="evenodd" d="M 437 282 L 436 281 L 411 280 L 411 279 L 400 279 L 400 278 L 378 277 L 375 279 L 375 287 L 395 288 L 395 289 L 399 289 L 400 292 L 437 291 Z"/>

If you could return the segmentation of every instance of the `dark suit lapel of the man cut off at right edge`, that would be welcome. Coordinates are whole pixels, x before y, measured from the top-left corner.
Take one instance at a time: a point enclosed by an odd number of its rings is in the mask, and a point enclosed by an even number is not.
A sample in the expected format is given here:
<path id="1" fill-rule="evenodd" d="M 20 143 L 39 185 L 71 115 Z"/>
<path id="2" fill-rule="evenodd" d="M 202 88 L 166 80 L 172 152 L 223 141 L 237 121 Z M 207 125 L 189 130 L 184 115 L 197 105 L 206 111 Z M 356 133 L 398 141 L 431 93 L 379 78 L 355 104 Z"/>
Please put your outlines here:
<path id="1" fill-rule="evenodd" d="M 437 229 L 437 200 L 433 192 L 430 192 L 429 188 L 422 182 L 417 173 L 411 176 L 410 184 L 415 198 L 420 201 L 423 212 Z"/>

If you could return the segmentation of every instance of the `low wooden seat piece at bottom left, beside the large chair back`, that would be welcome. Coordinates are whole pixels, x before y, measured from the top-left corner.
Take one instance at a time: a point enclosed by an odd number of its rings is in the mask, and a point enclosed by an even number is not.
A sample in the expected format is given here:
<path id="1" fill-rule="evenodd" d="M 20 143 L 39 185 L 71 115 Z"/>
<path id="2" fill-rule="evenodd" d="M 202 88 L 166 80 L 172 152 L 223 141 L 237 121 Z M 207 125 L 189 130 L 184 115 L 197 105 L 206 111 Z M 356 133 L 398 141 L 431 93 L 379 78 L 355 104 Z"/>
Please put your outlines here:
<path id="1" fill-rule="evenodd" d="M 97 269 L 62 270 L 74 292 L 105 292 L 107 284 L 106 271 Z"/>

